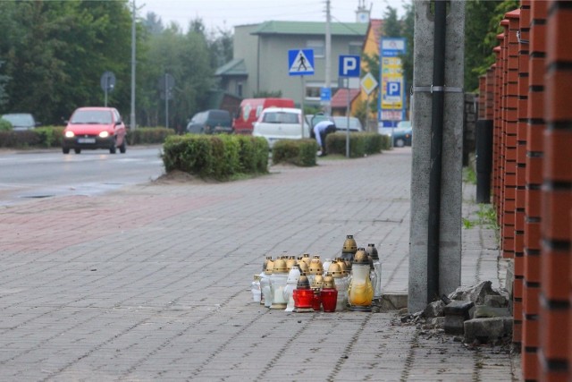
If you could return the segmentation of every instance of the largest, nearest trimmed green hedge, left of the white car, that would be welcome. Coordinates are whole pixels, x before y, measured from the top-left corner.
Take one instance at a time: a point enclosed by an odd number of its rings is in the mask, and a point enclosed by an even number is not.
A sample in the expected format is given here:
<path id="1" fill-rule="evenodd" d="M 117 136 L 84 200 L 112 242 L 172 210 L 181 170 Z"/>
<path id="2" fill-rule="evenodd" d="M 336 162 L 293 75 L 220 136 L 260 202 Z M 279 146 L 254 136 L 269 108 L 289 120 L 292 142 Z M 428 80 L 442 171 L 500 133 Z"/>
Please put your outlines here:
<path id="1" fill-rule="evenodd" d="M 171 135 L 163 145 L 167 173 L 180 170 L 202 178 L 228 180 L 268 172 L 268 143 L 245 135 Z"/>

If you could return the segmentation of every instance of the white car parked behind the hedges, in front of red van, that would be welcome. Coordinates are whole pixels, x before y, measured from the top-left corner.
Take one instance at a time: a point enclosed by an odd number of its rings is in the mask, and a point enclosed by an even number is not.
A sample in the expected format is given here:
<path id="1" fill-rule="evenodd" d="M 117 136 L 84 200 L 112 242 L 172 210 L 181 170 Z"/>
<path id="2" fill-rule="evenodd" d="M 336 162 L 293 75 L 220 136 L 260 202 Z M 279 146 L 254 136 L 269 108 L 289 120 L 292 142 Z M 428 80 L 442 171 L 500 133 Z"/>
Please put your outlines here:
<path id="1" fill-rule="evenodd" d="M 302 126 L 302 111 L 290 107 L 267 107 L 254 123 L 252 135 L 264 137 L 270 149 L 277 140 L 310 138 L 310 127 Z"/>

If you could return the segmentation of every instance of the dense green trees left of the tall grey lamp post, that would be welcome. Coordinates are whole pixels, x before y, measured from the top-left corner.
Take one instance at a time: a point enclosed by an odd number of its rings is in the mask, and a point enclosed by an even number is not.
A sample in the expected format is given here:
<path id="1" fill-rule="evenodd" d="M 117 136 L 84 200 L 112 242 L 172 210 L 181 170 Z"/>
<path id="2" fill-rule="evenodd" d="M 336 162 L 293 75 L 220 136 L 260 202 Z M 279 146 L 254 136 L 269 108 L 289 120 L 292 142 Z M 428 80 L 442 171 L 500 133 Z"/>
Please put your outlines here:
<path id="1" fill-rule="evenodd" d="M 62 123 L 77 106 L 103 104 L 99 79 L 118 78 L 111 102 L 129 103 L 130 12 L 114 2 L 0 2 L 7 28 L 0 57 L 10 81 L 6 108 Z M 127 97 L 126 97 L 127 96 Z"/>

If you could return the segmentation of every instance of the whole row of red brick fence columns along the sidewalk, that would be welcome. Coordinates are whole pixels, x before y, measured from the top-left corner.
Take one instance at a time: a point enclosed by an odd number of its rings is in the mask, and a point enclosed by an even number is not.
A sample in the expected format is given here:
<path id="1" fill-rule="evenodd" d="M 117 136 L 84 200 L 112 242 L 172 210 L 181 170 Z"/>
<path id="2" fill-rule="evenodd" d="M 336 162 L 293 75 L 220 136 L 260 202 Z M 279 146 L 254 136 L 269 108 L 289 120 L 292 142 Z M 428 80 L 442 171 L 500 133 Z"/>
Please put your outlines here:
<path id="1" fill-rule="evenodd" d="M 480 79 L 526 381 L 572 381 L 572 1 L 521 0 Z M 492 104 L 492 105 L 491 105 Z"/>

